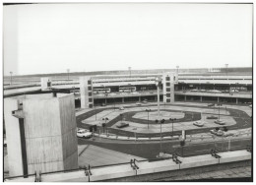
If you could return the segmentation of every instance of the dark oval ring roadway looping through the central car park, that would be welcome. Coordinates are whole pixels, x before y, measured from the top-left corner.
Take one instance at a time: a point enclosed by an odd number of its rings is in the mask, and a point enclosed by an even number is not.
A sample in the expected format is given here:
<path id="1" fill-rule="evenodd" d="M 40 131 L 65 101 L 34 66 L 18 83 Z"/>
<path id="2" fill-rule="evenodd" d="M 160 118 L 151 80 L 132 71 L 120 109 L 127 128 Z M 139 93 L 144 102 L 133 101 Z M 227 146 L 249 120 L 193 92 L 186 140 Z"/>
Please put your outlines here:
<path id="1" fill-rule="evenodd" d="M 149 107 L 149 106 L 156 106 L 156 105 L 147 105 L 145 107 Z M 199 107 L 199 108 L 209 108 L 209 109 L 216 109 L 215 107 L 207 107 L 207 106 L 195 106 L 195 105 L 172 105 L 172 106 L 184 106 L 184 107 Z M 138 106 L 127 106 L 127 108 L 132 108 L 132 107 L 138 107 Z M 85 128 L 85 129 L 89 129 L 89 124 L 86 123 L 82 123 L 83 120 L 95 115 L 96 113 L 99 113 L 105 109 L 113 109 L 113 107 L 107 107 L 107 108 L 99 108 L 99 109 L 94 109 L 91 110 L 87 113 L 81 114 L 79 116 L 77 116 L 77 125 L 80 128 Z M 230 125 L 230 126 L 226 126 L 228 130 L 237 130 L 237 129 L 244 129 L 244 128 L 249 128 L 252 126 L 252 119 L 251 117 L 245 113 L 244 111 L 238 110 L 238 109 L 232 109 L 232 108 L 227 108 L 227 110 L 229 111 L 230 115 L 236 122 L 235 125 Z M 170 111 L 170 110 L 164 110 L 164 111 Z M 172 110 L 171 110 L 172 111 Z M 131 111 L 131 112 L 127 112 L 124 113 L 126 114 L 126 121 L 134 121 L 134 122 L 139 122 L 142 124 L 148 124 L 148 120 L 145 119 L 138 119 L 138 118 L 132 118 L 132 116 L 140 111 Z M 185 112 L 185 111 L 184 111 Z M 195 116 L 192 116 L 192 114 L 194 114 Z M 226 116 L 226 115 L 225 115 Z M 193 117 L 193 119 L 192 119 Z M 188 120 L 191 119 L 191 121 L 193 120 L 199 120 L 200 119 L 200 113 L 197 112 L 185 112 L 185 117 L 182 119 L 177 119 L 175 122 L 181 122 L 184 120 Z M 121 121 L 121 116 L 117 116 L 112 120 L 109 120 L 106 123 L 106 127 L 110 127 L 113 124 L 115 124 L 116 122 Z M 150 121 L 151 124 L 155 124 L 154 121 Z M 166 123 L 170 123 L 169 120 L 166 121 Z M 218 125 L 217 125 L 218 127 Z M 221 126 L 219 126 L 221 127 Z M 97 127 L 97 131 L 100 129 L 100 131 L 102 132 L 102 128 L 99 126 Z M 124 131 L 124 130 L 120 130 L 120 129 L 114 129 L 114 128 L 107 128 L 109 133 L 118 135 L 118 136 L 129 136 L 129 137 L 134 137 L 134 132 L 130 132 L 130 131 Z M 190 135 L 190 134 L 199 134 L 199 133 L 206 133 L 206 132 L 210 132 L 211 128 L 200 128 L 200 129 L 193 129 L 193 130 L 187 130 L 186 134 Z M 172 132 L 162 132 L 161 136 L 171 136 Z M 137 137 L 160 137 L 160 133 L 137 133 L 136 134 Z M 181 135 L 181 131 L 174 131 L 173 135 Z"/>

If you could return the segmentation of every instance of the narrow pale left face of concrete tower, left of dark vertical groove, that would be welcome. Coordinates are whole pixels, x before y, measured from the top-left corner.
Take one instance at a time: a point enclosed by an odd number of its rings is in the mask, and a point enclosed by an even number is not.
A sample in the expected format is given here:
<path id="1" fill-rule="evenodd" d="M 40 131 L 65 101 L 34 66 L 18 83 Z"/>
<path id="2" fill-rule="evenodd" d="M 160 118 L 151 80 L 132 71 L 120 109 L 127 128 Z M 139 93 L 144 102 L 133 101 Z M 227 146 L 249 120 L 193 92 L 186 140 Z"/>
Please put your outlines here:
<path id="1" fill-rule="evenodd" d="M 19 100 L 16 98 L 4 99 L 4 118 L 6 128 L 9 175 L 23 175 L 23 160 L 21 149 L 21 135 L 19 119 L 12 115 L 18 109 Z"/>

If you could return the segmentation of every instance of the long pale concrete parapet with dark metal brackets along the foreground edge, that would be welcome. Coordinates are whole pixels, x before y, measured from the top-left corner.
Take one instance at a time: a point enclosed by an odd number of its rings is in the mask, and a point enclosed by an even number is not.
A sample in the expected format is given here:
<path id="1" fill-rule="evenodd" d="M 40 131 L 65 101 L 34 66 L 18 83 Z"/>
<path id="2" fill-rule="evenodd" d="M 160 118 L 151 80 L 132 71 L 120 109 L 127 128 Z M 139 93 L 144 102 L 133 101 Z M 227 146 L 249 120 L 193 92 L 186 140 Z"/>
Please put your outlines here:
<path id="1" fill-rule="evenodd" d="M 214 164 L 223 164 L 235 161 L 251 159 L 250 150 L 220 153 L 210 150 L 209 154 L 181 157 L 172 154 L 168 158 L 151 160 L 137 160 L 131 158 L 130 161 L 119 164 L 104 166 L 85 166 L 80 169 L 65 171 L 53 171 L 41 173 L 36 171 L 28 176 L 7 177 L 8 182 L 92 182 L 104 181 L 116 178 L 135 177 L 143 174 L 153 174 L 165 171 L 177 171 L 194 167 L 202 167 Z"/>

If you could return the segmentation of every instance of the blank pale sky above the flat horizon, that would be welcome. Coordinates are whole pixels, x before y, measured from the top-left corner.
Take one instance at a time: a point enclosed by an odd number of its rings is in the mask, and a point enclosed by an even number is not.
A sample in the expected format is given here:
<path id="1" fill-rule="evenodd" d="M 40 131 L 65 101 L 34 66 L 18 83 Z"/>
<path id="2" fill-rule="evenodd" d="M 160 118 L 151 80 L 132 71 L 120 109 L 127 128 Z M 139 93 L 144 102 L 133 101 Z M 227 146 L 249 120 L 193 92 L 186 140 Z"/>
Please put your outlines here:
<path id="1" fill-rule="evenodd" d="M 252 66 L 251 4 L 4 7 L 4 74 Z"/>

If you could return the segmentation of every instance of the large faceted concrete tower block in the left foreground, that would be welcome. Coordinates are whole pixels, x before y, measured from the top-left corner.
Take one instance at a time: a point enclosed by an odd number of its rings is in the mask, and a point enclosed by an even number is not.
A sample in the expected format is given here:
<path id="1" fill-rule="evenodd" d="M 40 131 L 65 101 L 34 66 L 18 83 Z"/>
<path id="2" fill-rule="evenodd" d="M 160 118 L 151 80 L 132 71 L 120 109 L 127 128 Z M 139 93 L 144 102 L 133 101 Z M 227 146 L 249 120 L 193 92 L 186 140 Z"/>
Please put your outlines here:
<path id="1" fill-rule="evenodd" d="M 78 168 L 74 94 L 4 99 L 9 175 Z"/>

